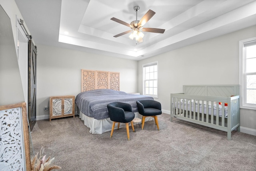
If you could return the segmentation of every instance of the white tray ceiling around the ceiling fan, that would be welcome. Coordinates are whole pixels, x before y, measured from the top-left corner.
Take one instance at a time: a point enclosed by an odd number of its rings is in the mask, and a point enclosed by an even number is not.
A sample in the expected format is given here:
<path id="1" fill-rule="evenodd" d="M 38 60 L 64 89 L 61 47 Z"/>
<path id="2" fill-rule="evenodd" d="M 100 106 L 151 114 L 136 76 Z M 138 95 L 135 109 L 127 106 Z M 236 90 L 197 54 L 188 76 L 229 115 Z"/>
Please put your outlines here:
<path id="1" fill-rule="evenodd" d="M 142 60 L 202 40 L 256 25 L 256 0 L 15 0 L 36 44 L 46 44 L 118 58 Z M 165 29 L 144 32 L 142 43 L 125 34 L 129 27 L 110 20 L 138 20 Z M 68 32 L 66 35 L 64 32 Z"/>

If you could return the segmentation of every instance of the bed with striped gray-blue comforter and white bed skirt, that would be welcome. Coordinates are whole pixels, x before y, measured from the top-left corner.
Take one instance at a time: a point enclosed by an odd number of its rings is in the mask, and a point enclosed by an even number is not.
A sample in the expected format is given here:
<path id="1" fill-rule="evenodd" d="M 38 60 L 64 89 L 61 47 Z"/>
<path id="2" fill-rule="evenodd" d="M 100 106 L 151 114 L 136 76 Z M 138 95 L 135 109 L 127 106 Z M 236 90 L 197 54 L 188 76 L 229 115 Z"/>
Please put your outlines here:
<path id="1" fill-rule="evenodd" d="M 154 98 L 147 95 L 130 94 L 113 89 L 95 89 L 79 93 L 76 96 L 75 103 L 79 117 L 84 121 L 84 125 L 90 128 L 90 133 L 101 134 L 106 131 L 111 131 L 112 129 L 112 121 L 108 117 L 108 103 L 115 101 L 129 103 L 132 106 L 135 117 L 142 118 L 138 113 L 136 104 L 136 101 L 139 99 L 153 100 Z M 148 120 L 152 119 L 149 118 Z M 125 124 L 120 123 L 120 127 L 123 126 L 125 126 Z"/>

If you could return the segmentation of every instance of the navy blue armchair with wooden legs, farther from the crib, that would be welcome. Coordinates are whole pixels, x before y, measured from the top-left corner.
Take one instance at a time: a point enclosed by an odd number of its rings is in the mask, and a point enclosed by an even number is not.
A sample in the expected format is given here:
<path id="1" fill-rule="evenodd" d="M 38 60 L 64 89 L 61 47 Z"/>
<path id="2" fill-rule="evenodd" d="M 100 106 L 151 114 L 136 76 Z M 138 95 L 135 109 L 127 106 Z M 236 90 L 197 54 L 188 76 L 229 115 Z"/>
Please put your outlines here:
<path id="1" fill-rule="evenodd" d="M 107 105 L 108 107 L 108 115 L 110 120 L 113 121 L 112 130 L 110 137 L 112 137 L 114 132 L 115 124 L 118 123 L 118 128 L 120 123 L 126 123 L 126 132 L 128 140 L 130 140 L 129 134 L 129 122 L 131 122 L 132 130 L 134 131 L 134 126 L 132 120 L 135 117 L 135 114 L 132 112 L 132 106 L 128 103 L 122 102 L 112 102 Z"/>

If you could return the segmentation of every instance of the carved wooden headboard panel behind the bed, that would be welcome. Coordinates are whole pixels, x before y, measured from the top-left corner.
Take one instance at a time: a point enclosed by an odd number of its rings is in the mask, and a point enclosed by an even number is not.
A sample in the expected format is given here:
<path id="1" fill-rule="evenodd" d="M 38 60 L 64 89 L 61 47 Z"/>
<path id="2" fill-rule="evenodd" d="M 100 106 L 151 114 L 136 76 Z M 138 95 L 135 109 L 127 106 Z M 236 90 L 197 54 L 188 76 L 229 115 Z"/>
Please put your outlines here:
<path id="1" fill-rule="evenodd" d="M 94 89 L 114 89 L 120 91 L 120 73 L 81 70 L 81 92 Z"/>

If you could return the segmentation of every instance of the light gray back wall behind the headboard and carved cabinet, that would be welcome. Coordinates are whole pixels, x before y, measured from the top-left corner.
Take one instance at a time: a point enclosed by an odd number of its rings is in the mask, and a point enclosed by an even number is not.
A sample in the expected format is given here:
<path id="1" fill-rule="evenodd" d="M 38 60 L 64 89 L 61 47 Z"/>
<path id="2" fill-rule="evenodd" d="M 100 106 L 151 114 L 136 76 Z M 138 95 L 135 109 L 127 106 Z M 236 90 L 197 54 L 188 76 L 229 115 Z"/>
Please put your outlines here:
<path id="1" fill-rule="evenodd" d="M 49 97 L 81 92 L 81 69 L 120 72 L 120 91 L 137 92 L 137 61 L 37 44 L 37 119 Z M 41 117 L 42 116 L 42 117 Z"/>

